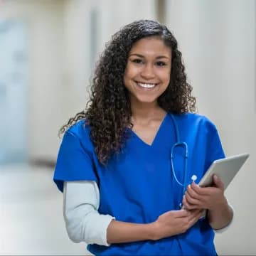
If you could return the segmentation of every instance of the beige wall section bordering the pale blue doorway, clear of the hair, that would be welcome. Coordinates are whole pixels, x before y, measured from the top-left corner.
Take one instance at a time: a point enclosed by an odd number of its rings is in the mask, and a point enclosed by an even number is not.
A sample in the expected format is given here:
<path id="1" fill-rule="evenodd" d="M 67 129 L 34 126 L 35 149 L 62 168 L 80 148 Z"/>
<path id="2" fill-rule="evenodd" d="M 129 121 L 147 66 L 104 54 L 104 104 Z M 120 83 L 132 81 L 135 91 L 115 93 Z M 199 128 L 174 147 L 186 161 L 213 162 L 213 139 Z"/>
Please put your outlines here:
<path id="1" fill-rule="evenodd" d="M 57 131 L 64 116 L 63 10 L 63 1 L 1 2 L 2 19 L 26 25 L 29 159 L 53 158 L 58 150 Z"/>

